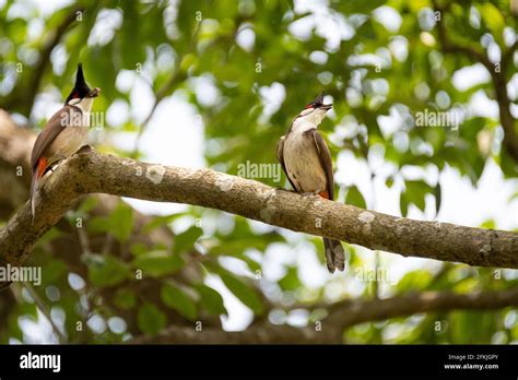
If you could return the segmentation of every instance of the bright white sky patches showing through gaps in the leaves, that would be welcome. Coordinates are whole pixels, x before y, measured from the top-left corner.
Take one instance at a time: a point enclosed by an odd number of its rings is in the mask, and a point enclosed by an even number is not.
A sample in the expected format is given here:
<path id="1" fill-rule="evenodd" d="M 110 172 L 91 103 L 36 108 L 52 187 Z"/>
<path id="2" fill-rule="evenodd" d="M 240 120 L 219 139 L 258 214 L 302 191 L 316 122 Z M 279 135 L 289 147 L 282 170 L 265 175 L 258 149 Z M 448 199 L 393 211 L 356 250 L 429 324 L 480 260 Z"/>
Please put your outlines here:
<path id="1" fill-rule="evenodd" d="M 0 0 L 0 7 L 4 0 Z M 44 1 L 39 2 L 39 7 L 45 12 L 52 12 L 55 9 L 68 4 L 68 1 Z M 332 51 L 337 48 L 340 38 L 348 39 L 354 33 L 348 23 L 340 17 L 332 17 L 332 22 L 326 23 L 327 27 L 321 27 L 320 20 L 331 17 L 329 11 L 325 7 L 326 1 L 295 1 L 296 13 L 311 12 L 307 17 L 304 17 L 291 27 L 290 32 L 297 38 L 305 38 L 305 33 L 316 26 L 316 33 L 327 39 L 326 49 Z M 24 12 L 23 9 L 15 10 L 15 12 Z M 381 7 L 375 12 L 375 17 L 382 23 L 389 31 L 398 31 L 401 24 L 400 15 L 391 8 Z M 106 28 L 117 25 L 117 21 L 113 25 L 104 24 Z M 35 26 L 37 27 L 37 25 Z M 96 31 L 98 35 L 105 35 L 107 31 Z M 245 34 L 239 36 L 239 45 L 244 47 L 251 47 L 254 45 L 254 34 Z M 89 44 L 99 43 L 98 38 L 93 36 L 89 39 Z M 400 41 L 395 49 L 404 55 L 404 40 Z M 314 59 L 325 59 L 325 55 L 316 54 Z M 67 60 L 66 55 L 52 54 L 51 62 L 56 71 L 62 68 Z M 145 71 L 145 67 L 144 67 Z M 87 73 L 85 74 L 87 78 Z M 145 75 L 144 75 L 145 76 Z M 456 72 L 452 76 L 452 83 L 458 90 L 468 90 L 479 83 L 484 83 L 490 80 L 488 73 L 484 67 L 474 64 L 463 68 Z M 154 95 L 145 81 L 145 78 L 138 75 L 131 71 L 121 71 L 116 79 L 119 88 L 131 88 L 131 102 L 138 107 L 129 109 L 120 103 L 115 103 L 108 109 L 106 121 L 109 124 L 117 126 L 126 121 L 127 118 L 132 117 L 134 120 L 144 120 L 148 116 L 152 105 Z M 189 82 L 192 88 L 197 91 L 197 97 L 204 104 L 213 104 L 217 99 L 217 90 L 212 85 L 210 78 L 196 79 Z M 267 107 L 267 115 L 271 115 L 282 106 L 285 98 L 285 88 L 280 83 L 274 83 L 271 86 L 261 88 L 260 93 Z M 509 93 L 518 94 L 518 74 L 509 84 Z M 60 94 L 57 92 L 45 94 L 37 97 L 36 105 L 32 118 L 37 120 L 42 118 L 49 118 L 62 104 L 59 98 Z M 344 102 L 344 99 L 332 99 L 335 102 Z M 303 107 L 304 105 L 301 105 Z M 494 100 L 488 99 L 483 92 L 478 92 L 473 95 L 469 104 L 469 111 L 472 115 L 483 115 L 497 118 L 498 109 Z M 172 115 L 174 115 L 174 122 L 172 122 Z M 350 123 L 345 120 L 337 120 L 335 115 L 331 111 L 329 117 L 337 124 L 335 136 L 340 133 L 346 133 Z M 286 128 L 290 120 L 286 120 Z M 397 130 L 398 115 L 391 114 L 386 116 L 382 120 L 382 128 L 387 131 Z M 92 136 L 93 141 L 104 139 L 103 131 L 96 131 Z M 121 149 L 130 149 L 134 146 L 137 135 L 133 133 L 117 133 L 110 136 L 113 143 Z M 333 135 L 330 136 L 330 143 L 333 141 Z M 142 135 L 140 147 L 143 153 L 143 161 L 149 163 L 160 163 L 172 166 L 183 166 L 189 168 L 202 168 L 205 166 L 203 158 L 204 152 L 204 128 L 201 118 L 197 116 L 197 111 L 192 105 L 187 102 L 187 97 L 181 91 L 177 91 L 173 96 L 165 98 L 157 107 L 152 119 L 150 120 L 145 132 Z M 266 147 L 268 149 L 268 147 Z M 272 150 L 275 146 L 271 146 Z M 393 168 L 390 164 L 373 154 L 370 159 L 370 167 L 380 176 L 375 180 L 374 186 L 370 183 L 369 168 L 365 162 L 354 157 L 351 152 L 342 151 L 337 157 L 335 165 L 335 181 L 341 186 L 356 185 L 370 209 L 384 212 L 391 215 L 400 215 L 399 211 L 399 192 L 401 186 L 396 183 L 392 188 L 385 186 L 384 175 L 391 173 Z M 412 170 L 407 173 L 408 176 L 424 177 L 432 185 L 438 179 L 436 170 Z M 483 175 L 476 186 L 473 187 L 467 177 L 461 177 L 458 170 L 446 167 L 440 174 L 440 183 L 443 187 L 443 200 L 438 219 L 440 222 L 449 222 L 459 225 L 476 227 L 487 219 L 494 219 L 496 227 L 502 229 L 518 228 L 518 199 L 509 203 L 510 197 L 518 191 L 518 180 L 504 180 L 502 170 L 491 159 L 487 162 Z M 149 214 L 170 214 L 187 209 L 186 205 L 170 204 L 170 203 L 155 203 L 149 201 L 125 199 L 129 204 L 134 206 L 142 213 Z M 421 212 L 416 207 L 411 207 L 409 217 L 415 219 L 431 221 L 435 218 L 435 205 L 432 199 L 426 202 L 425 212 Z M 228 215 L 220 216 L 217 221 L 208 221 L 204 227 L 205 234 L 217 228 L 217 225 L 223 221 L 223 225 L 232 225 L 232 218 Z M 180 218 L 174 223 L 173 228 L 176 233 L 189 227 L 192 223 L 191 218 Z M 258 222 L 250 222 L 257 230 L 264 230 L 270 228 Z M 272 245 L 268 248 L 263 256 L 263 277 L 267 280 L 278 280 L 284 275 L 285 264 L 296 264 L 299 269 L 302 281 L 308 286 L 320 286 L 329 276 L 331 276 L 325 265 L 317 261 L 314 253 L 314 248 L 307 241 L 301 239 L 299 234 L 283 230 L 282 234 L 292 242 L 289 245 Z M 374 265 L 375 254 L 366 249 L 360 249 L 361 256 L 366 260 L 367 265 Z M 250 253 L 250 254 L 257 254 Z M 392 253 L 380 253 L 381 262 L 385 265 L 390 265 L 391 274 L 395 280 L 400 278 L 409 270 L 417 268 L 429 268 L 434 270 L 437 263 L 431 260 L 402 258 Z M 223 262 L 225 266 L 236 271 L 243 272 L 242 263 L 236 260 L 227 259 Z M 248 275 L 250 275 L 248 273 Z M 346 277 L 343 274 L 333 274 L 333 281 L 326 290 L 326 295 L 330 300 L 340 297 L 343 290 L 352 294 L 360 294 L 364 284 L 358 284 L 355 278 Z M 225 305 L 229 311 L 228 318 L 223 319 L 225 330 L 243 330 L 251 321 L 251 312 L 222 284 L 216 276 L 209 276 L 207 284 L 213 286 L 222 293 Z M 59 313 L 56 317 L 59 321 Z M 284 316 L 290 323 L 301 323 L 301 316 Z M 282 319 L 282 318 L 281 318 Z M 31 322 L 23 322 L 27 334 L 35 336 L 36 341 L 48 341 L 49 326 L 48 323 L 42 322 L 32 325 Z M 101 323 L 101 322 L 98 322 Z M 95 323 L 94 323 L 95 324 Z M 44 336 L 44 337 L 42 337 Z"/>

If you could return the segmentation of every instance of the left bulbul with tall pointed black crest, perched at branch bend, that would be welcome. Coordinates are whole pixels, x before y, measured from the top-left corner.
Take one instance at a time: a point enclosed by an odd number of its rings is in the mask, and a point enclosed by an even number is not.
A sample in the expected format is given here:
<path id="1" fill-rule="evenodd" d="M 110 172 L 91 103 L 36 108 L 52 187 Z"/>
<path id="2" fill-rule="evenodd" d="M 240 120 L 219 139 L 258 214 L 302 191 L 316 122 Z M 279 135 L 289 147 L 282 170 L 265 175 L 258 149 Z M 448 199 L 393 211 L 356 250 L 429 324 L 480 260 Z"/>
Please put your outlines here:
<path id="1" fill-rule="evenodd" d="M 31 211 L 35 216 L 35 198 L 42 177 L 56 164 L 75 153 L 85 142 L 90 112 L 101 90 L 91 90 L 84 81 L 83 68 L 78 66 L 75 85 L 64 105 L 45 124 L 38 134 L 31 155 L 33 180 L 31 183 Z"/>

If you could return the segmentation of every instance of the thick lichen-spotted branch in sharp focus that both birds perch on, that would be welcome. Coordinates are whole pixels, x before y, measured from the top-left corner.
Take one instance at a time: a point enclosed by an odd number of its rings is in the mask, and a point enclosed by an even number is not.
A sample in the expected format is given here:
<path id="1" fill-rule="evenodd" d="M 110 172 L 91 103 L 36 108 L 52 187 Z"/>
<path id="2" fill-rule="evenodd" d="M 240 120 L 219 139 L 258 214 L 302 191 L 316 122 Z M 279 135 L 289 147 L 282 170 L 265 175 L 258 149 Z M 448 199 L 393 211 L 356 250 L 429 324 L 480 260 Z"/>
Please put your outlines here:
<path id="1" fill-rule="evenodd" d="M 0 229 L 0 260 L 22 263 L 78 197 L 97 192 L 217 209 L 402 256 L 518 268 L 517 233 L 395 217 L 211 169 L 144 164 L 91 150 L 82 150 L 46 177 L 34 224 L 27 202 Z"/>

